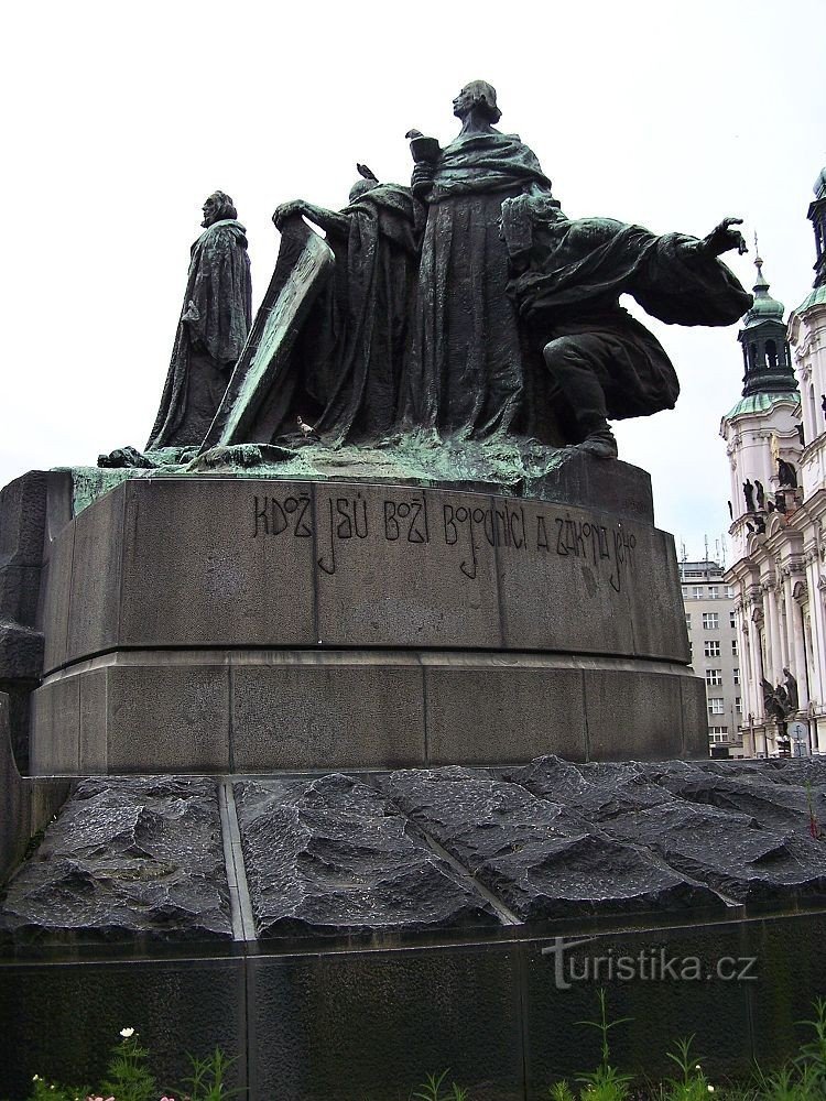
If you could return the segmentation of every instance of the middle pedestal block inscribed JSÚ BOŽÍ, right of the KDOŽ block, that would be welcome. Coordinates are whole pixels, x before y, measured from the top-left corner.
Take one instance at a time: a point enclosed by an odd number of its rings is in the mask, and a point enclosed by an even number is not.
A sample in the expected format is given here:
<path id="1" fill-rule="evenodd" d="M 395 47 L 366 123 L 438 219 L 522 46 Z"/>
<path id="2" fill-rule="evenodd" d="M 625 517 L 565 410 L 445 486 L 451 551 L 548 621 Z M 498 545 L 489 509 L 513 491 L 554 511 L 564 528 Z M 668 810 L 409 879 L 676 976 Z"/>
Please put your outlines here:
<path id="1" fill-rule="evenodd" d="M 316 486 L 318 642 L 499 646 L 490 515 L 469 493 Z"/>

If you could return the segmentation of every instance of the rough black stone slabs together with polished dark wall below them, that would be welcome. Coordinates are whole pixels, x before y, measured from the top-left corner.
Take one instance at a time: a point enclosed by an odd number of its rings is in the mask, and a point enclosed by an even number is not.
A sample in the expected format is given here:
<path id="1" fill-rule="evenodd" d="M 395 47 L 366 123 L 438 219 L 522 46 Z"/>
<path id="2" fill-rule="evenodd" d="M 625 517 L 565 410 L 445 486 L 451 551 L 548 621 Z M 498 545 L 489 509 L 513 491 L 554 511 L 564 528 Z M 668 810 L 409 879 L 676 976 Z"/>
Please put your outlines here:
<path id="1" fill-rule="evenodd" d="M 540 1101 L 600 986 L 623 1070 L 771 1066 L 823 993 L 824 818 L 819 760 L 86 781 L 0 904 L 0 1097 L 130 1025 L 167 1092 L 219 1044 L 250 1101 Z"/>

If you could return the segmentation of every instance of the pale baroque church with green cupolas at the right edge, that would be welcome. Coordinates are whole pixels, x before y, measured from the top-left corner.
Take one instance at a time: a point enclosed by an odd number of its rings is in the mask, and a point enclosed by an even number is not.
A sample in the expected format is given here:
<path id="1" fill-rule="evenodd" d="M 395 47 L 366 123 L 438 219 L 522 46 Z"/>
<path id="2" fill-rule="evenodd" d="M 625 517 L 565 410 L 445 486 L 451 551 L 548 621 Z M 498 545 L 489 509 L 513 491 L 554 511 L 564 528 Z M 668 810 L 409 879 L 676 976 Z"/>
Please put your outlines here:
<path id="1" fill-rule="evenodd" d="M 747 756 L 826 753 L 826 167 L 808 218 L 815 280 L 787 324 L 754 260 L 742 396 L 720 425 Z"/>

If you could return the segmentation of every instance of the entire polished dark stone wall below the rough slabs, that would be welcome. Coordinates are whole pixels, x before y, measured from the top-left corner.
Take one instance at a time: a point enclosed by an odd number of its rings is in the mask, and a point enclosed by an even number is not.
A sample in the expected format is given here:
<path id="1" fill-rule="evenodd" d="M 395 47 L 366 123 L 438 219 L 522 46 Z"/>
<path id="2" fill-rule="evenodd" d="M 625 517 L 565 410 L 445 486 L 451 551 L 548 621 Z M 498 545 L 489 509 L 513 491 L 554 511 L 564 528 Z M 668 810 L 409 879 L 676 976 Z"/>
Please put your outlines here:
<path id="1" fill-rule="evenodd" d="M 580 930 L 583 931 L 583 930 Z M 588 935 L 588 930 L 584 930 Z M 576 930 L 567 936 L 579 939 Z M 593 1069 L 598 1038 L 582 1025 L 607 989 L 612 1062 L 652 1078 L 673 1070 L 677 1038 L 714 1082 L 773 1066 L 805 1036 L 798 1022 L 826 980 L 823 913 L 602 931 L 586 958 L 697 958 L 692 981 L 575 982 L 557 989 L 550 939 L 460 946 L 350 945 L 239 958 L 66 960 L 0 966 L 0 1095 L 25 1098 L 34 1073 L 99 1075 L 124 1025 L 153 1053 L 165 1088 L 185 1050 L 238 1055 L 235 1080 L 256 1101 L 398 1101 L 449 1068 L 474 1101 L 540 1101 L 557 1078 Z M 754 981 L 705 978 L 720 958 L 757 955 Z M 176 1095 L 176 1094 L 175 1094 Z"/>

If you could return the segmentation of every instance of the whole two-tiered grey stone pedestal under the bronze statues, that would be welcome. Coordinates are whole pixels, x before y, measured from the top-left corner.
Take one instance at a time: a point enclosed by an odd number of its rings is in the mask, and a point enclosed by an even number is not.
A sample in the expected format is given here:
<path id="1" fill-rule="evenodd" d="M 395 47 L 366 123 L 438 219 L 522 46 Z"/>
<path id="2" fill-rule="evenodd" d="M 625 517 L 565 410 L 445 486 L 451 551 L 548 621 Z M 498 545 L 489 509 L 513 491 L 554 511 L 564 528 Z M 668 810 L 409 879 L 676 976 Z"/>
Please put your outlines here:
<path id="1" fill-rule="evenodd" d="M 46 550 L 32 772 L 706 755 L 648 476 L 580 456 L 543 495 L 122 482 Z"/>

